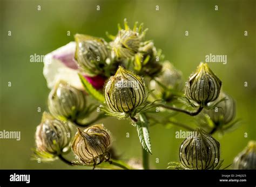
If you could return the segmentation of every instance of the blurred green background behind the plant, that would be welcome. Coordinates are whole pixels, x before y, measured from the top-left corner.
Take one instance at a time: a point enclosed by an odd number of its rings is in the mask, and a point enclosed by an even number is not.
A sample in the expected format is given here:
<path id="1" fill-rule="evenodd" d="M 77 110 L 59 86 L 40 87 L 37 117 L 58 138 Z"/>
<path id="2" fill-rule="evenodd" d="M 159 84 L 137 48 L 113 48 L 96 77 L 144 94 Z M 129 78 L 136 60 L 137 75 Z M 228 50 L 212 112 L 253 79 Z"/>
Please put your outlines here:
<path id="1" fill-rule="evenodd" d="M 38 5 L 41 11 L 37 10 Z M 97 5 L 100 11 L 96 10 Z M 215 5 L 218 11 L 214 10 Z M 31 63 L 30 55 L 47 54 L 72 41 L 75 33 L 106 38 L 106 31 L 117 33 L 117 23 L 123 23 L 124 18 L 130 26 L 139 21 L 149 28 L 146 39 L 153 39 L 156 47 L 163 49 L 165 59 L 183 72 L 184 80 L 205 60 L 205 55 L 227 55 L 226 65 L 209 64 L 223 81 L 223 89 L 237 101 L 237 118 L 242 119 L 237 130 L 223 137 L 214 135 L 220 142 L 224 165 L 232 163 L 249 140 L 256 139 L 255 1 L 1 0 L 0 12 L 0 131 L 21 131 L 20 141 L 0 139 L 0 169 L 72 168 L 58 160 L 49 164 L 30 160 L 36 126 L 47 110 L 49 93 L 42 74 L 43 63 Z M 71 36 L 66 35 L 67 31 Z M 185 31 L 189 32 L 188 37 Z M 247 37 L 244 31 L 248 31 Z M 37 107 L 42 111 L 37 112 Z M 184 114 L 178 116 L 181 118 L 187 124 L 192 121 Z M 140 158 L 137 131 L 129 121 L 109 118 L 102 122 L 112 132 L 113 146 L 122 159 Z M 157 125 L 150 128 L 151 168 L 165 169 L 170 161 L 179 161 L 183 139 L 175 138 L 178 130 Z M 130 138 L 126 138 L 127 132 Z"/>

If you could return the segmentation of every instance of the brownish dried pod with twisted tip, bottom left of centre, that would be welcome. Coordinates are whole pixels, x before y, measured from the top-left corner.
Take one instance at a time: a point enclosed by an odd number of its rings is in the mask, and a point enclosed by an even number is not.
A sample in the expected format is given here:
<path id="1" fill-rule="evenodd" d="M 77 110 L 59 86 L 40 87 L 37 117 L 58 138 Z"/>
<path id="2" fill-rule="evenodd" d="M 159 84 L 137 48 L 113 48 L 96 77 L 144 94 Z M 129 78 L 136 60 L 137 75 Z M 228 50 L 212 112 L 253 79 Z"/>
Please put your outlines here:
<path id="1" fill-rule="evenodd" d="M 85 164 L 99 164 L 110 159 L 110 133 L 104 125 L 93 125 L 81 131 L 79 128 L 72 143 L 72 150 L 78 160 Z"/>

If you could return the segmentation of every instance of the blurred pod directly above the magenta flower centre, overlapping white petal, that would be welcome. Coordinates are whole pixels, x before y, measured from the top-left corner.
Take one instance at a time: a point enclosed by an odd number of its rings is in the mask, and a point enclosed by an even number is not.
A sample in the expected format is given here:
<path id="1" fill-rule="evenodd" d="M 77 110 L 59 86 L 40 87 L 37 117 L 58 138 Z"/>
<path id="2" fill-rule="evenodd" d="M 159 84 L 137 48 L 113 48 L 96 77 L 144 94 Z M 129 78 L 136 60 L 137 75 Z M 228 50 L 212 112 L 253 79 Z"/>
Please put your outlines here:
<path id="1" fill-rule="evenodd" d="M 75 59 L 84 73 L 90 76 L 102 74 L 107 62 L 110 62 L 110 51 L 102 38 L 76 34 Z"/>

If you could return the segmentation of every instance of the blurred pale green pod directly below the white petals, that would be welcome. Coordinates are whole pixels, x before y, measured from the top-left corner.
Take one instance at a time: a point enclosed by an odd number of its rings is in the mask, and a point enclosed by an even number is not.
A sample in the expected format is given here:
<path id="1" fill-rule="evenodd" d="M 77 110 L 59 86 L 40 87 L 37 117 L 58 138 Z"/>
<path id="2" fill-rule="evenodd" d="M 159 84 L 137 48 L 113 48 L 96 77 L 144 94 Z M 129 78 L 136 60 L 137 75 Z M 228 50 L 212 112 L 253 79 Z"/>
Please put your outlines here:
<path id="1" fill-rule="evenodd" d="M 82 117 L 85 104 L 85 93 L 64 81 L 58 82 L 48 97 L 49 110 L 58 119 L 75 120 Z"/>

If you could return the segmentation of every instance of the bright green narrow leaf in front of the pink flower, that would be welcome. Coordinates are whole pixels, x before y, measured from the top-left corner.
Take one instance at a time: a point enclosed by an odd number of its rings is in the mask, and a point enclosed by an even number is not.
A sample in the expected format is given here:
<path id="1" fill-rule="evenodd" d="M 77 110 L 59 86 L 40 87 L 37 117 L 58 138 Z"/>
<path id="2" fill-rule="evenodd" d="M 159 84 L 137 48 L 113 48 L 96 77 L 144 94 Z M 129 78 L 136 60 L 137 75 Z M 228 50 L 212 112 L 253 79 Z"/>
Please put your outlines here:
<path id="1" fill-rule="evenodd" d="M 92 87 L 92 85 L 84 78 L 83 75 L 78 74 L 80 81 L 82 82 L 84 89 L 87 93 L 89 93 L 92 97 L 94 97 L 95 99 L 97 99 L 100 103 L 104 103 L 105 98 L 102 95 L 102 93 L 100 93 L 99 91 L 97 91 L 95 88 Z"/>

